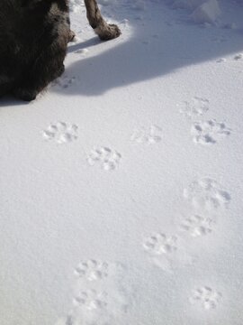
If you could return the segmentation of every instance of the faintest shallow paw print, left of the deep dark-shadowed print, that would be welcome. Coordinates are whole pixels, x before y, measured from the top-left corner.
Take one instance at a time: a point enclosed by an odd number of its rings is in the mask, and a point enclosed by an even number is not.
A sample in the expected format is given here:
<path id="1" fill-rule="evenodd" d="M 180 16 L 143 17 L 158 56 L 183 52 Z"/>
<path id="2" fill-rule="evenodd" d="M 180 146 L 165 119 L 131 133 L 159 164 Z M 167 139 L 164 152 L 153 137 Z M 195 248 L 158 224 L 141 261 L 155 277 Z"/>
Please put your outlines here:
<path id="1" fill-rule="evenodd" d="M 138 144 L 157 144 L 161 139 L 162 129 L 157 125 L 135 129 L 130 137 L 131 141 L 137 142 Z"/>

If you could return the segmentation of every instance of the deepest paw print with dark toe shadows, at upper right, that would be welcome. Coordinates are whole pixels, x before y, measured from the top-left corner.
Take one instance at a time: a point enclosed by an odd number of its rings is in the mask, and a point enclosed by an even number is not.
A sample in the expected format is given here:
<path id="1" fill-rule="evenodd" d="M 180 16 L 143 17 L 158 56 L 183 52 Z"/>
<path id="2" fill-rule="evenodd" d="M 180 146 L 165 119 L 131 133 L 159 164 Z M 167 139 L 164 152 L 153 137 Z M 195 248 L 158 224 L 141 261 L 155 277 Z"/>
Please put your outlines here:
<path id="1" fill-rule="evenodd" d="M 216 144 L 222 137 L 230 135 L 231 130 L 224 124 L 215 120 L 194 123 L 191 135 L 195 144 Z"/>

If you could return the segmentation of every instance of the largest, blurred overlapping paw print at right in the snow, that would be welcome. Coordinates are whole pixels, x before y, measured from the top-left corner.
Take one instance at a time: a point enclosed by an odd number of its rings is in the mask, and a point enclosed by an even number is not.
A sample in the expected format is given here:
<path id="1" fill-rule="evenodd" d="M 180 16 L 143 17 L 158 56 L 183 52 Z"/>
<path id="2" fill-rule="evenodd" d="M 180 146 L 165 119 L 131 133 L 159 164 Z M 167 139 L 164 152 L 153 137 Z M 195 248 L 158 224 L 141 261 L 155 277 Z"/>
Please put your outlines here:
<path id="1" fill-rule="evenodd" d="M 193 181 L 188 189 L 184 189 L 184 199 L 195 209 L 219 209 L 229 205 L 230 195 L 223 190 L 217 181 L 202 178 Z"/>

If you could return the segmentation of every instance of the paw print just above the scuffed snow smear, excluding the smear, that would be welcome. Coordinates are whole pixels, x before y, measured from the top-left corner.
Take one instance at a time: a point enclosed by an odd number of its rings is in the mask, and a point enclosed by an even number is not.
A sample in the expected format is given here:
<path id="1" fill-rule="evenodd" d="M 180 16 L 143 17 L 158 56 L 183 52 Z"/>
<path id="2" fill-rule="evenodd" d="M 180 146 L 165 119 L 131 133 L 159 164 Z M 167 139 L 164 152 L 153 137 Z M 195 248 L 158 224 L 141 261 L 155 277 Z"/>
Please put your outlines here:
<path id="1" fill-rule="evenodd" d="M 165 234 L 155 234 L 145 239 L 143 246 L 153 255 L 171 254 L 176 251 L 177 237 Z"/>

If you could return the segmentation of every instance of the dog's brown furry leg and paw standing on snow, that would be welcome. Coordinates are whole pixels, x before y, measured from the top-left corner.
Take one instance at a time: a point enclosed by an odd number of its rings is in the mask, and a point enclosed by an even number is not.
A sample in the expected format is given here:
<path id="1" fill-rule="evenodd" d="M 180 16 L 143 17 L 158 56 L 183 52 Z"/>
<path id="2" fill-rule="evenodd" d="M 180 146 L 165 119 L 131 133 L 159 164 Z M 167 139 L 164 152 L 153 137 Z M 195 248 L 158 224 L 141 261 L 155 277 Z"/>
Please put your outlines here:
<path id="1" fill-rule="evenodd" d="M 108 41 L 121 35 L 121 31 L 117 25 L 108 24 L 103 20 L 96 0 L 85 0 L 85 7 L 87 19 L 101 40 Z"/>

